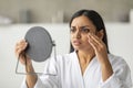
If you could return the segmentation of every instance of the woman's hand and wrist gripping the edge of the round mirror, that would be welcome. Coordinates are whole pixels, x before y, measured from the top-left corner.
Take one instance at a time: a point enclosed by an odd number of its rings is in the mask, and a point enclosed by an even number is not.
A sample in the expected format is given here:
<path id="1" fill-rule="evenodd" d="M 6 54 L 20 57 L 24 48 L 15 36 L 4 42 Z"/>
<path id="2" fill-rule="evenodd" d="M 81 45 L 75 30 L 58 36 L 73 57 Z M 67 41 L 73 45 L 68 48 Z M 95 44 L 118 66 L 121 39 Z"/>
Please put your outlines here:
<path id="1" fill-rule="evenodd" d="M 31 59 L 30 57 L 24 53 L 24 50 L 27 48 L 28 43 L 25 42 L 25 40 L 21 40 L 16 44 L 16 56 L 18 57 L 18 59 L 20 59 L 20 62 L 25 65 L 31 65 Z"/>

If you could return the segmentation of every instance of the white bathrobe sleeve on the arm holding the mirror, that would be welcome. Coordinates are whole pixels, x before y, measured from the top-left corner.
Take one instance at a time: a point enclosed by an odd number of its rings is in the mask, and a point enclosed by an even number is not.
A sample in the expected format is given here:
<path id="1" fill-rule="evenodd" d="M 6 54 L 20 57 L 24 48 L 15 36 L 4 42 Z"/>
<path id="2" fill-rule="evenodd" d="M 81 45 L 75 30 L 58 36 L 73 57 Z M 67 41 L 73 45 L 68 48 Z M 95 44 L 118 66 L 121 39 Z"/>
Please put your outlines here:
<path id="1" fill-rule="evenodd" d="M 59 88 L 58 70 L 55 66 L 55 59 L 51 58 L 45 63 L 43 75 L 38 76 L 38 80 L 34 88 Z M 28 88 L 25 78 L 21 85 L 21 88 Z"/>

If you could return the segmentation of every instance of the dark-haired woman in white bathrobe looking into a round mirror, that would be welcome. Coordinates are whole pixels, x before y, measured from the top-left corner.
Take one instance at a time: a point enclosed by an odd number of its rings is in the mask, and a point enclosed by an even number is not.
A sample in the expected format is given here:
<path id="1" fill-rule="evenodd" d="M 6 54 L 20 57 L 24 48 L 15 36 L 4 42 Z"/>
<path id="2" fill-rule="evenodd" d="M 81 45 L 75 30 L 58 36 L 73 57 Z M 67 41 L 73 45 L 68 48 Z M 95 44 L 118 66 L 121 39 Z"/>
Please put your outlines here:
<path id="1" fill-rule="evenodd" d="M 71 44 L 74 51 L 57 56 L 57 76 L 27 75 L 22 88 L 131 88 L 131 72 L 125 61 L 109 54 L 105 26 L 100 14 L 93 10 L 80 10 L 70 21 Z M 30 57 L 23 53 L 28 43 L 16 45 L 16 54 L 27 73 L 34 73 Z M 55 58 L 51 58 L 55 59 Z M 54 62 L 50 62 L 52 63 Z M 45 70 L 44 70 L 45 72 Z"/>

